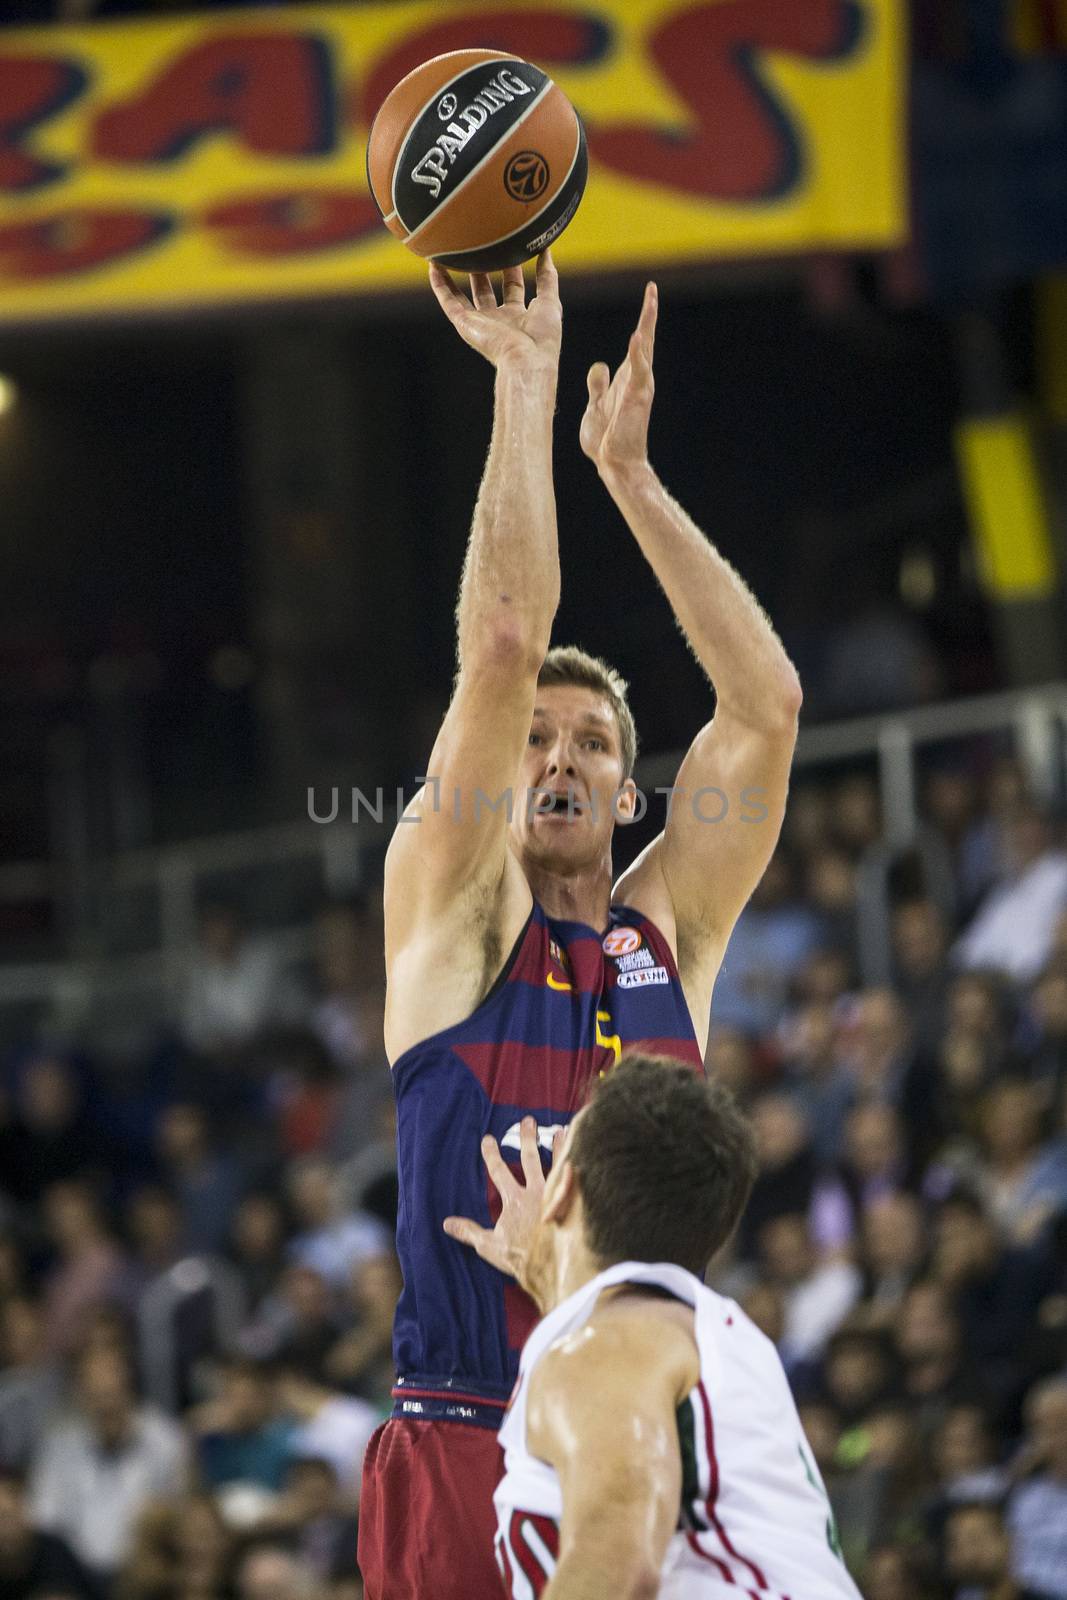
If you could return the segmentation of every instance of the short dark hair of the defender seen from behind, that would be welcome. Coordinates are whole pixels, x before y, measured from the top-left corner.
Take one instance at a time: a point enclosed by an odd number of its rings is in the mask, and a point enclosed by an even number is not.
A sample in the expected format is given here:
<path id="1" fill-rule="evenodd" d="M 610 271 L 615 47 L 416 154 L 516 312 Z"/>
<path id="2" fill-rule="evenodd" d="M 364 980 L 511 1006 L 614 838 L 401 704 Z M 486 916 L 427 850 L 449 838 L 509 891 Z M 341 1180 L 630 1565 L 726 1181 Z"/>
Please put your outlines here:
<path id="1" fill-rule="evenodd" d="M 672 1261 L 702 1274 L 757 1174 L 755 1138 L 729 1090 L 638 1051 L 600 1080 L 568 1154 L 605 1266 Z"/>

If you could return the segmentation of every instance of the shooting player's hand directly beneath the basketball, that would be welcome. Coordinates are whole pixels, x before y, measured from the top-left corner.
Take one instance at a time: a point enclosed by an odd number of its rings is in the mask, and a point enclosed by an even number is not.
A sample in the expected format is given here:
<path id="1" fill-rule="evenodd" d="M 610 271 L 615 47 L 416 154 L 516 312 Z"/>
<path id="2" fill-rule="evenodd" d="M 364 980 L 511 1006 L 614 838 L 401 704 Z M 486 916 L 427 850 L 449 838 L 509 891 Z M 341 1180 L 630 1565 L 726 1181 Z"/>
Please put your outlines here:
<path id="1" fill-rule="evenodd" d="M 560 360 L 563 307 L 552 251 L 537 256 L 536 294 L 526 306 L 522 267 L 504 270 L 504 302 L 498 306 L 488 272 L 470 274 L 470 299 L 461 294 L 443 267 L 430 266 L 430 285 L 453 328 L 472 350 L 494 366 L 520 363 L 550 366 Z"/>

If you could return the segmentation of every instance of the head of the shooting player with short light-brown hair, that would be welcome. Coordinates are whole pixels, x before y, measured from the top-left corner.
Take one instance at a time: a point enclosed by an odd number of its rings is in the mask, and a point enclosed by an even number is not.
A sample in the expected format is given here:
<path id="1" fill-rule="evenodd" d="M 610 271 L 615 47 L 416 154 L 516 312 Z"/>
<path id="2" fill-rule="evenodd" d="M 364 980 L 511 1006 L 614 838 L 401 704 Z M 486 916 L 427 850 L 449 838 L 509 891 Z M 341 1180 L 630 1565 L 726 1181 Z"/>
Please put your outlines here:
<path id="1" fill-rule="evenodd" d="M 611 850 L 637 805 L 637 730 L 614 667 L 574 646 L 550 650 L 537 674 L 512 837 L 522 856 L 581 872 Z"/>

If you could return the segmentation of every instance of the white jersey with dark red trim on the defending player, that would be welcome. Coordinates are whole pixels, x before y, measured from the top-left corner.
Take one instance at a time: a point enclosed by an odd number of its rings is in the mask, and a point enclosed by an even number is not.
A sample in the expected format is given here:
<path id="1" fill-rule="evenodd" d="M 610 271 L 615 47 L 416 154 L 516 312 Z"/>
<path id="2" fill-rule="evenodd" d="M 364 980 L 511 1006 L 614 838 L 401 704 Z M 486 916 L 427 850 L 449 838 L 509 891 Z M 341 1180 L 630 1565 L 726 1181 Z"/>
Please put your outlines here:
<path id="1" fill-rule="evenodd" d="M 549 1346 L 581 1328 L 598 1296 L 619 1283 L 661 1288 L 696 1312 L 701 1378 L 677 1411 L 681 1504 L 661 1600 L 859 1600 L 774 1346 L 734 1301 L 693 1274 L 633 1261 L 565 1299 L 523 1349 L 501 1429 L 504 1478 L 494 1494 L 496 1560 L 512 1600 L 542 1594 L 555 1571 L 563 1517 L 557 1474 L 526 1446 L 530 1378 Z"/>

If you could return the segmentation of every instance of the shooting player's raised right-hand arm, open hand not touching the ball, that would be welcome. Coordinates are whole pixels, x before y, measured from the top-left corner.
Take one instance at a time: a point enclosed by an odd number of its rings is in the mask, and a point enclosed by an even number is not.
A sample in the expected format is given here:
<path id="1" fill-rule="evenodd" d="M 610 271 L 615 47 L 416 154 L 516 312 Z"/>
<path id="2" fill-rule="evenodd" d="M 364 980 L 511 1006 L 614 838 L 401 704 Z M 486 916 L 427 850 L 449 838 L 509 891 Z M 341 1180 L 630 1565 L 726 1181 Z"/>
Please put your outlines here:
<path id="1" fill-rule="evenodd" d="M 688 986 L 694 970 L 713 976 L 777 842 L 801 691 L 752 592 L 649 466 L 656 315 L 649 283 L 614 378 L 603 363 L 589 373 L 581 442 L 715 686 L 715 717 L 681 763 L 665 830 L 619 886 L 630 904 L 673 917 Z"/>

